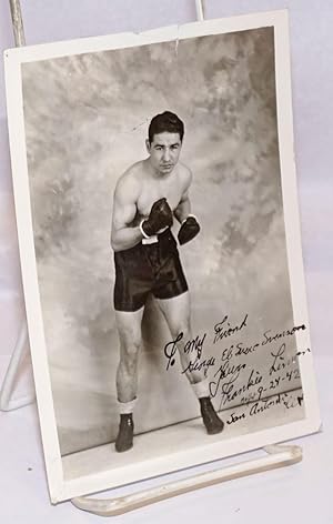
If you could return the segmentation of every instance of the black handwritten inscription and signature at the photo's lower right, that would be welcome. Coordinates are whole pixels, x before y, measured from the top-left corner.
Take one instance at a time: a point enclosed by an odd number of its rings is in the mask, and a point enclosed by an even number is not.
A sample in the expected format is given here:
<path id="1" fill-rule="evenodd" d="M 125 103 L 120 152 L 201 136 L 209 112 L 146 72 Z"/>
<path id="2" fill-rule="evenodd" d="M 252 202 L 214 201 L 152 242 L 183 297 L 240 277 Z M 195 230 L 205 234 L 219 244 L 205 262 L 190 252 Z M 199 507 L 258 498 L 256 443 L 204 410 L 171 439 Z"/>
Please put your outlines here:
<path id="1" fill-rule="evenodd" d="M 225 314 L 208 332 L 189 341 L 180 333 L 164 346 L 167 370 L 174 365 L 179 350 L 186 355 L 186 359 L 182 359 L 182 373 L 202 372 L 203 377 L 210 376 L 210 395 L 218 401 L 219 410 L 229 405 L 251 406 L 246 415 L 239 410 L 232 412 L 228 424 L 264 413 L 274 405 L 291 409 L 302 404 L 301 396 L 295 401 L 285 391 L 301 389 L 299 357 L 311 350 L 287 347 L 287 341 L 295 333 L 306 330 L 306 326 L 300 324 L 281 331 L 269 329 L 251 343 L 235 340 L 235 335 L 239 339 L 246 328 L 248 313 L 239 322 Z M 228 340 L 229 345 L 225 344 Z M 218 354 L 216 351 L 211 354 L 212 346 L 221 342 L 224 342 L 224 347 Z M 260 364 L 256 356 L 259 351 L 265 351 Z"/>

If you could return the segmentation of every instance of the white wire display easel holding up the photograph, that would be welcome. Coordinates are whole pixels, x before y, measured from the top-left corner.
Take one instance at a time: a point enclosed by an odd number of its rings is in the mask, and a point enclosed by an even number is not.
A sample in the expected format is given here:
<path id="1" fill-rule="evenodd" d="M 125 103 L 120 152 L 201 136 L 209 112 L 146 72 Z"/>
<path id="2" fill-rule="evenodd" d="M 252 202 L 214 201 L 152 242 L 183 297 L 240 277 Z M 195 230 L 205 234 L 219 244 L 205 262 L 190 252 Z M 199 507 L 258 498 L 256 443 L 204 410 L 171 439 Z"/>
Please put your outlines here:
<path id="1" fill-rule="evenodd" d="M 9 0 L 9 2 L 16 46 L 21 47 L 26 44 L 26 39 L 20 0 Z M 195 7 L 198 20 L 204 20 L 203 0 L 195 0 Z M 28 344 L 28 328 L 27 321 L 24 320 L 0 392 L 1 411 L 17 410 L 33 403 L 36 400 L 34 395 L 28 395 L 17 400 L 11 399 L 20 362 L 24 353 L 28 353 L 29 351 Z M 212 472 L 201 473 L 181 481 L 171 482 L 162 486 L 152 487 L 127 496 L 111 500 L 82 496 L 75 497 L 71 502 L 80 510 L 97 515 L 119 515 L 200 487 L 206 487 L 209 485 L 240 478 L 242 476 L 295 464 L 302 460 L 302 449 L 296 445 L 270 445 L 265 446 L 263 450 L 266 452 L 266 455 L 261 458 L 241 462 Z"/>

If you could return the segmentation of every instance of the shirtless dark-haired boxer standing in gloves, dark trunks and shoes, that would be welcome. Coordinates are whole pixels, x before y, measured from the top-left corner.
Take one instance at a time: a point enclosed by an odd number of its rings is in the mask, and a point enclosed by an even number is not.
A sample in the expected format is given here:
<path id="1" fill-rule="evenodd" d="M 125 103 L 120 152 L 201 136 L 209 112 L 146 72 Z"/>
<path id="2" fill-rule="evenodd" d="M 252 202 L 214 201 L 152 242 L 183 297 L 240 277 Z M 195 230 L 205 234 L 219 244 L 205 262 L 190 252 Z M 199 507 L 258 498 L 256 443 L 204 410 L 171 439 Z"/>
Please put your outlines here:
<path id="1" fill-rule="evenodd" d="M 200 231 L 190 214 L 189 188 L 192 173 L 179 161 L 184 134 L 183 122 L 170 111 L 154 117 L 149 125 L 149 157 L 131 165 L 119 179 L 113 200 L 111 245 L 114 250 L 114 309 L 120 339 L 117 391 L 120 410 L 115 450 L 133 444 L 133 407 L 137 401 L 138 356 L 145 301 L 152 293 L 167 320 L 173 340 L 180 333 L 178 350 L 183 369 L 192 340 L 190 294 L 171 225 L 181 223 L 180 244 Z M 210 401 L 208 380 L 202 371 L 186 371 L 200 401 L 209 434 L 220 433 L 223 422 Z"/>

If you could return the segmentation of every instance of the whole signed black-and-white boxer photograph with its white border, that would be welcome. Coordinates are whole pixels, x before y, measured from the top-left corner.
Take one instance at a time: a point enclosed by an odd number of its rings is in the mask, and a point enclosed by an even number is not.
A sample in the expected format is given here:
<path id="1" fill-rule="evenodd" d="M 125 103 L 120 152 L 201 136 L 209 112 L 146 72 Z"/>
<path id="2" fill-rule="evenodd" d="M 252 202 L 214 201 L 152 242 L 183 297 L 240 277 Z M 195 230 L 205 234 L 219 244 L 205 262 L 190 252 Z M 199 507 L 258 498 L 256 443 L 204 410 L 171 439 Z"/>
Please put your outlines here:
<path id="1" fill-rule="evenodd" d="M 315 432 L 285 11 L 4 53 L 52 502 Z"/>

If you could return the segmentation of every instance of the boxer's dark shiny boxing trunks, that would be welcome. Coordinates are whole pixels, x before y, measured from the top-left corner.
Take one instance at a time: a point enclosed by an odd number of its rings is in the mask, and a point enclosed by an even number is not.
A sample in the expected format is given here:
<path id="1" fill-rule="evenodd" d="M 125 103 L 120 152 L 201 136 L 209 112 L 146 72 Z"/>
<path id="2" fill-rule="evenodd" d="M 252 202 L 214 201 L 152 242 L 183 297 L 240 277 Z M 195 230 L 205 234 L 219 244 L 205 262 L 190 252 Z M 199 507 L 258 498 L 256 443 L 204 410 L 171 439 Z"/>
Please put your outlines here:
<path id="1" fill-rule="evenodd" d="M 144 242 L 144 241 L 143 241 Z M 154 243 L 140 243 L 114 252 L 114 309 L 138 311 L 150 293 L 172 299 L 188 291 L 176 242 L 167 229 Z"/>

